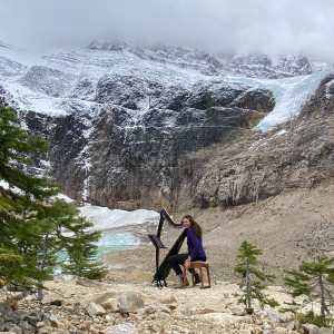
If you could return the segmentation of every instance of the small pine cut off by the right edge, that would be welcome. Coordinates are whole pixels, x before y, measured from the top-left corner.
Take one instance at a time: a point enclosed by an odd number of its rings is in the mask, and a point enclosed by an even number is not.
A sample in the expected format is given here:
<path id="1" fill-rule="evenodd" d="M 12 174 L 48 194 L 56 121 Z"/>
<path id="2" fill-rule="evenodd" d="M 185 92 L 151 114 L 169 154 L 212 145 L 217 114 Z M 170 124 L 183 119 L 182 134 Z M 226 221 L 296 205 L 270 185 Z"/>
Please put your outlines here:
<path id="1" fill-rule="evenodd" d="M 334 295 L 334 257 L 318 256 L 315 262 L 302 262 L 298 269 L 285 271 L 289 276 L 284 277 L 284 284 L 291 287 L 289 294 L 293 298 L 305 296 L 303 303 L 295 299 L 288 304 L 291 307 L 285 311 L 296 313 L 296 310 L 314 304 L 321 305 L 321 317 L 330 320 L 333 316 Z"/>

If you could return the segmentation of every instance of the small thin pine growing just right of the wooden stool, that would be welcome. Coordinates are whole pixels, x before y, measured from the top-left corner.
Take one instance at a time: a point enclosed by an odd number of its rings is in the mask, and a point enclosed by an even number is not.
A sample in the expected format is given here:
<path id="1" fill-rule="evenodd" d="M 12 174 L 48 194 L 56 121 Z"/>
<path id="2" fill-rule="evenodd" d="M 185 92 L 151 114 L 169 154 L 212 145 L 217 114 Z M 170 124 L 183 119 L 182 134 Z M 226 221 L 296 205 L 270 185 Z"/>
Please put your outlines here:
<path id="1" fill-rule="evenodd" d="M 268 298 L 263 292 L 266 287 L 264 282 L 273 282 L 275 278 L 274 275 L 265 274 L 257 268 L 257 255 L 262 255 L 263 252 L 246 240 L 242 243 L 238 252 L 237 258 L 239 263 L 234 268 L 234 272 L 243 278 L 239 283 L 243 294 L 238 295 L 238 302 L 244 303 L 246 307 L 252 307 L 253 299 L 257 299 L 262 308 L 265 304 L 272 307 L 278 306 L 275 299 Z"/>

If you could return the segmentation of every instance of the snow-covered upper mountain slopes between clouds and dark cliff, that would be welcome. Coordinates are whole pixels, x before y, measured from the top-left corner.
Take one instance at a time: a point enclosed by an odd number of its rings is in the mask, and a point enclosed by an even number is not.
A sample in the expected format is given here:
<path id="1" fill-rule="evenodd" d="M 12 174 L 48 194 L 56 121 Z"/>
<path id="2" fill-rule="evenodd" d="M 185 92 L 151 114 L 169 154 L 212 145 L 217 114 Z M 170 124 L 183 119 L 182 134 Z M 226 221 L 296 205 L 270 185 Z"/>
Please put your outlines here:
<path id="1" fill-rule="evenodd" d="M 224 81 L 232 85 L 233 80 L 249 85 L 245 78 L 282 79 L 312 73 L 310 61 L 301 56 L 218 58 L 180 47 L 144 48 L 119 42 L 95 42 L 87 49 L 49 55 L 31 55 L 3 45 L 0 50 L 1 86 L 12 95 L 11 102 L 22 110 L 53 115 L 76 112 L 72 105 L 95 109 L 96 104 L 145 111 L 202 86 Z M 250 85 L 256 87 L 258 82 Z M 112 85 L 111 96 L 105 96 L 106 85 Z"/>

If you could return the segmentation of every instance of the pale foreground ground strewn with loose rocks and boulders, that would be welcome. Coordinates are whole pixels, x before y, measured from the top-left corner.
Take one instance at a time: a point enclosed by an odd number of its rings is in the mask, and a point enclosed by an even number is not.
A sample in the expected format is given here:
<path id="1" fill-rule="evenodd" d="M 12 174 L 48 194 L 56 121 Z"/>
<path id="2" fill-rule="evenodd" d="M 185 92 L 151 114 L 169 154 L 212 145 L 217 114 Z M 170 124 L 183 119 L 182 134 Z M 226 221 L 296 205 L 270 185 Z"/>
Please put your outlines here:
<path id="1" fill-rule="evenodd" d="M 108 284 L 57 276 L 46 287 L 23 298 L 20 292 L 2 289 L 2 299 L 16 301 L 11 305 L 17 311 L 0 303 L 0 333 L 333 334 L 331 328 L 301 325 L 278 310 L 262 311 L 256 303 L 255 313 L 246 314 L 234 296 L 238 286 L 228 282 L 179 289 L 173 283 L 158 288 L 148 282 Z M 267 293 L 282 305 L 289 299 L 279 286 L 268 287 Z"/>

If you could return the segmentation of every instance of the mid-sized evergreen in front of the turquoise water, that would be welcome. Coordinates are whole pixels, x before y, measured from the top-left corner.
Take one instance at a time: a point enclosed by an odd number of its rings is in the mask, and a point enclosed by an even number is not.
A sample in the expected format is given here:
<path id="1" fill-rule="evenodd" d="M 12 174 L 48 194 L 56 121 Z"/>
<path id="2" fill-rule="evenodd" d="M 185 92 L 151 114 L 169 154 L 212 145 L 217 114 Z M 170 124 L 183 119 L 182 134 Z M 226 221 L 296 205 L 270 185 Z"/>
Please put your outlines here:
<path id="1" fill-rule="evenodd" d="M 66 274 L 102 278 L 106 267 L 96 259 L 100 232 L 88 230 L 94 224 L 80 217 L 73 204 L 62 199 L 55 200 L 47 216 L 50 230 L 43 236 L 43 266 L 58 265 Z"/>

